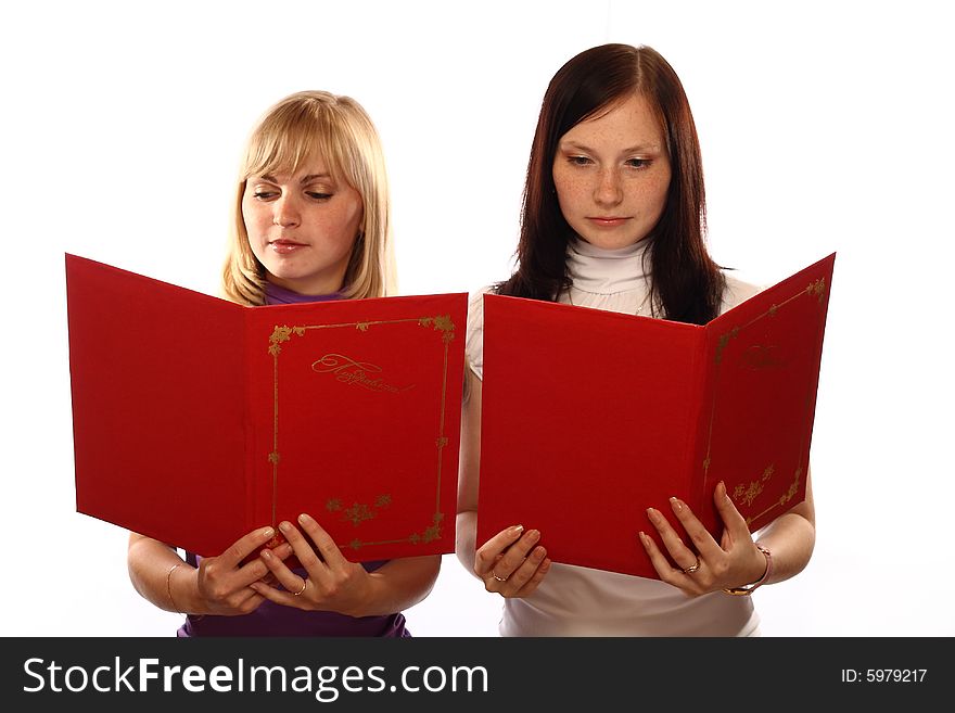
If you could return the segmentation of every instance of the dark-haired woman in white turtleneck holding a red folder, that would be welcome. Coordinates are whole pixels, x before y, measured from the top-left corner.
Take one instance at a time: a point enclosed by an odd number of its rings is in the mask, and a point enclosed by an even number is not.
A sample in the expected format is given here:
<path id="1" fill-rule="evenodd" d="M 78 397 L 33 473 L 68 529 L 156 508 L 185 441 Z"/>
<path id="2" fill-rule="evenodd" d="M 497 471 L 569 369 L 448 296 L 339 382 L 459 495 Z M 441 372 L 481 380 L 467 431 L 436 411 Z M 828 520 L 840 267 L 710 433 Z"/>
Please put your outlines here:
<path id="1" fill-rule="evenodd" d="M 682 82 L 658 52 L 595 47 L 548 86 L 527 168 L 518 268 L 493 288 L 702 324 L 759 291 L 724 272 L 705 246 L 699 141 Z M 652 508 L 640 534 L 659 580 L 551 562 L 540 533 L 513 525 L 475 543 L 483 378 L 481 295 L 471 303 L 461 443 L 458 557 L 504 597 L 505 636 L 754 636 L 749 596 L 789 578 L 812 556 L 806 499 L 754 540 L 726 491 L 716 542 L 679 500 L 671 507 L 692 542 Z M 743 595 L 743 596 L 735 596 Z"/>

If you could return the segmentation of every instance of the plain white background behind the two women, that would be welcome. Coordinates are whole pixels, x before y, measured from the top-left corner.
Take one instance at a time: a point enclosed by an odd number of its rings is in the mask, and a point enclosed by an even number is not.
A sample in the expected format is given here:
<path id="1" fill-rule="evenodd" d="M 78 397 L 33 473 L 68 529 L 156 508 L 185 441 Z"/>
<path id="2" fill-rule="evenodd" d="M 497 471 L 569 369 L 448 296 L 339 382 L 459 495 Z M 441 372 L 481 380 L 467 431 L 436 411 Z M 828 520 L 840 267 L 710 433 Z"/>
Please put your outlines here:
<path id="1" fill-rule="evenodd" d="M 623 41 L 684 80 L 718 262 L 771 281 L 839 253 L 816 552 L 755 595 L 764 633 L 955 635 L 943 4 L 8 3 L 0 632 L 168 636 L 179 621 L 133 591 L 125 531 L 75 512 L 64 252 L 214 293 L 249 129 L 281 97 L 328 89 L 382 133 L 400 291 L 473 290 L 510 271 L 547 81 Z M 498 607 L 447 556 L 407 613 L 419 636 L 495 636 Z"/>

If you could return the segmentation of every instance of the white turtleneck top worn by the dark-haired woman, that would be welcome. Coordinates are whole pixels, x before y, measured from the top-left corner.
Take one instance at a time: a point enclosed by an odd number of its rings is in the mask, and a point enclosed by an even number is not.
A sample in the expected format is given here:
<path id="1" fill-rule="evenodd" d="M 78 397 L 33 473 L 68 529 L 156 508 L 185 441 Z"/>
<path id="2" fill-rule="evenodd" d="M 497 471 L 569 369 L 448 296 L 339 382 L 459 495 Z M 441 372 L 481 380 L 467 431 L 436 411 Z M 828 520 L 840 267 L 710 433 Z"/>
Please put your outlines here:
<path id="1" fill-rule="evenodd" d="M 575 240 L 566 258 L 573 282 L 559 301 L 652 316 L 646 249 L 645 241 L 611 251 Z M 731 273 L 726 279 L 721 311 L 761 289 Z M 484 366 L 483 295 L 488 291 L 472 297 L 468 316 L 468 364 L 479 379 Z M 555 563 L 533 595 L 504 600 L 499 629 L 502 636 L 755 636 L 759 616 L 750 597 L 713 593 L 690 598 L 659 580 Z"/>

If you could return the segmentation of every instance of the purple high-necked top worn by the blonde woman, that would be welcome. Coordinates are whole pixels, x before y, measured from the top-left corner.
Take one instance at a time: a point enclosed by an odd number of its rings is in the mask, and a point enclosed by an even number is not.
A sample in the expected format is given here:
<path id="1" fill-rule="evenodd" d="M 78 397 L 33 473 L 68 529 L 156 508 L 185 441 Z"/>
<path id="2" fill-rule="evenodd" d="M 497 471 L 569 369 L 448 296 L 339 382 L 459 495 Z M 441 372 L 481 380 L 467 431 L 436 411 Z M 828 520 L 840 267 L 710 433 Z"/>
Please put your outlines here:
<path id="1" fill-rule="evenodd" d="M 267 305 L 286 305 L 300 302 L 340 300 L 341 292 L 324 295 L 303 295 L 271 282 L 265 289 Z M 198 558 L 187 552 L 186 561 L 198 565 Z M 385 561 L 362 562 L 368 572 L 374 572 Z M 295 570 L 305 576 L 304 570 Z M 382 616 L 348 616 L 330 611 L 302 611 L 264 601 L 251 614 L 241 616 L 196 616 L 188 614 L 177 636 L 387 636 L 409 637 L 400 612 Z"/>

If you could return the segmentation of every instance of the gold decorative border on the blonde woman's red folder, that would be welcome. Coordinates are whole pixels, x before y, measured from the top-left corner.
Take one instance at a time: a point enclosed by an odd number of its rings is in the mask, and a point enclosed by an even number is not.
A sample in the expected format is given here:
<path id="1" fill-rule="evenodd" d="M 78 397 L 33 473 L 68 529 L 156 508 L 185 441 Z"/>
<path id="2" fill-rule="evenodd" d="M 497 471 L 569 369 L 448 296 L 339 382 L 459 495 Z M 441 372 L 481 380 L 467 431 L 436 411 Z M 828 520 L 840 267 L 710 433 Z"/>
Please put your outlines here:
<path id="1" fill-rule="evenodd" d="M 278 493 L 279 493 L 279 462 L 281 461 L 281 455 L 279 451 L 279 355 L 282 353 L 282 344 L 289 342 L 292 336 L 304 336 L 306 332 L 311 330 L 320 330 L 320 329 L 345 329 L 345 328 L 354 328 L 359 332 L 367 332 L 371 327 L 378 327 L 383 324 L 405 324 L 405 323 L 417 323 L 419 327 L 423 328 L 432 328 L 435 332 L 438 333 L 441 338 L 441 343 L 444 349 L 444 361 L 442 367 L 442 380 L 441 380 L 441 406 L 440 406 L 440 416 L 438 419 L 438 432 L 437 437 L 435 438 L 435 446 L 437 447 L 437 480 L 435 483 L 435 494 L 434 494 L 434 514 L 432 515 L 431 523 L 424 526 L 421 532 L 415 532 L 408 535 L 407 537 L 398 537 L 395 539 L 386 539 L 386 540 L 378 540 L 378 542 L 362 542 L 360 539 L 353 539 L 348 543 L 348 547 L 352 549 L 359 549 L 361 547 L 368 547 L 372 545 L 386 545 L 386 544 L 397 544 L 397 543 L 411 543 L 413 545 L 421 543 L 430 543 L 435 539 L 441 538 L 441 525 L 444 521 L 444 513 L 441 511 L 441 480 L 442 480 L 442 451 L 448 445 L 448 437 L 445 435 L 445 419 L 446 419 L 446 402 L 447 402 L 447 369 L 448 369 L 448 347 L 450 342 L 455 339 L 455 323 L 451 319 L 450 315 L 437 315 L 433 317 L 417 317 L 417 318 L 408 318 L 408 319 L 392 319 L 392 320 L 377 320 L 377 321 L 360 321 L 360 322 L 343 322 L 339 324 L 308 324 L 308 326 L 276 326 L 272 330 L 272 333 L 269 335 L 269 347 L 268 353 L 272 356 L 272 450 L 268 454 L 268 461 L 272 467 L 272 525 L 275 526 L 277 515 L 276 508 L 278 502 Z M 386 496 L 390 498 L 390 496 Z"/>

